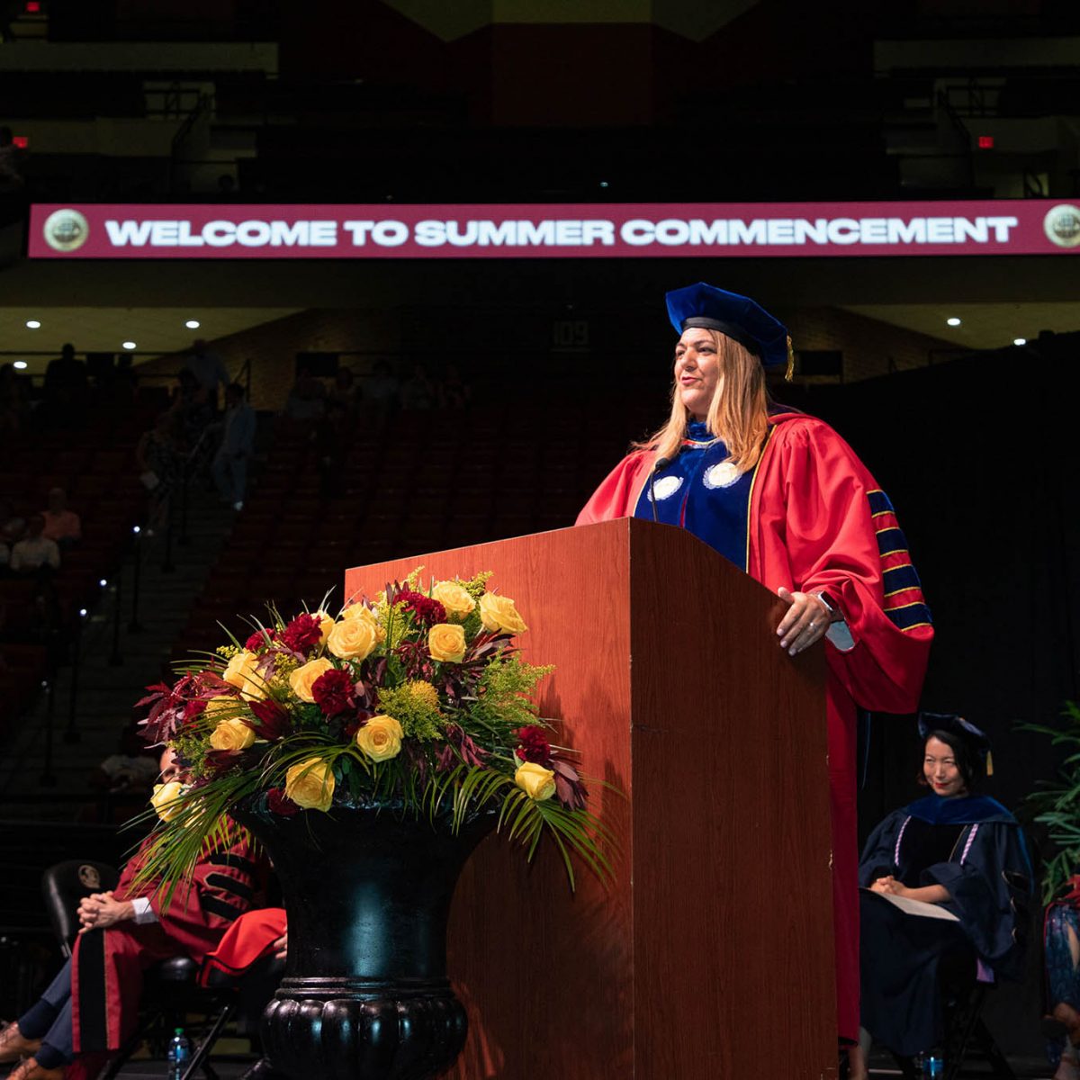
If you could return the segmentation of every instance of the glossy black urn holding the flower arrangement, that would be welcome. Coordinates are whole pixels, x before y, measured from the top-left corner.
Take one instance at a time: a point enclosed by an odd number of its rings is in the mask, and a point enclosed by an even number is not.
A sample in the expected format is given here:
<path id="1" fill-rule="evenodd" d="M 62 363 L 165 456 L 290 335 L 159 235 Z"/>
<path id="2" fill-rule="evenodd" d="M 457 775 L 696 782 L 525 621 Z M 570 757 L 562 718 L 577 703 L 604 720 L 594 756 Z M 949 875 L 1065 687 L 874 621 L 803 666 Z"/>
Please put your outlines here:
<path id="1" fill-rule="evenodd" d="M 496 814 L 457 834 L 449 814 L 394 807 L 235 816 L 266 847 L 288 913 L 285 977 L 262 1014 L 273 1065 L 294 1080 L 424 1080 L 453 1065 L 468 1023 L 446 977 L 446 923 Z"/>

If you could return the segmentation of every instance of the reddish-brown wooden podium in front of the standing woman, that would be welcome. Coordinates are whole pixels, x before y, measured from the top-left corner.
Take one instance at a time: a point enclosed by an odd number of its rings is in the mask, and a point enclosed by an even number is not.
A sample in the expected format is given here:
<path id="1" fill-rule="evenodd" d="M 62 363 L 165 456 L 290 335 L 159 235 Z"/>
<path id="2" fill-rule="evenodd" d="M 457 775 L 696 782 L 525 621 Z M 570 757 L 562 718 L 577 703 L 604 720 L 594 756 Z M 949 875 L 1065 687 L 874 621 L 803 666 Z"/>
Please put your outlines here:
<path id="1" fill-rule="evenodd" d="M 374 596 L 492 570 L 552 663 L 591 806 L 621 841 L 605 889 L 491 836 L 454 900 L 469 1010 L 455 1080 L 835 1077 L 825 664 L 791 658 L 785 605 L 690 534 L 620 519 L 346 573 Z M 542 845 L 545 849 L 548 846 Z"/>

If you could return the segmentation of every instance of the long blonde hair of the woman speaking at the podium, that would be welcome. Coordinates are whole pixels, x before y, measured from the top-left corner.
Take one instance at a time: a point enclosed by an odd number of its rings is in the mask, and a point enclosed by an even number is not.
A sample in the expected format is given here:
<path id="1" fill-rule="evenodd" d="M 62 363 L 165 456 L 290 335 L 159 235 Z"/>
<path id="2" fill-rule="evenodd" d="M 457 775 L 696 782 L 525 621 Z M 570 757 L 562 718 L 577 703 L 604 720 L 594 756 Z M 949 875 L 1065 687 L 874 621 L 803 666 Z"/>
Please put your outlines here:
<path id="1" fill-rule="evenodd" d="M 719 330 L 708 330 L 716 346 L 719 376 L 708 403 L 705 427 L 724 441 L 727 460 L 740 472 L 757 464 L 769 431 L 769 391 L 761 362 L 745 346 Z M 658 457 L 674 458 L 686 438 L 689 414 L 678 383 L 672 386 L 672 411 L 667 422 L 636 449 L 652 449 Z"/>

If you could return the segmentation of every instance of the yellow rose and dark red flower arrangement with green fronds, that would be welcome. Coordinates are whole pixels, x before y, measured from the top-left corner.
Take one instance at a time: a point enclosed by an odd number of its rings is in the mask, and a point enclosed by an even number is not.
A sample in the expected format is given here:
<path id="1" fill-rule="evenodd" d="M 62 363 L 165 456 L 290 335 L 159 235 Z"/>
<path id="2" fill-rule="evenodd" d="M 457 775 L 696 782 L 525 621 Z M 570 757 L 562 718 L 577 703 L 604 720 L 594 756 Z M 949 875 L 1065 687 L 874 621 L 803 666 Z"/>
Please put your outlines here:
<path id="1" fill-rule="evenodd" d="M 571 854 L 610 874 L 611 837 L 530 700 L 552 669 L 522 660 L 514 638 L 527 627 L 513 600 L 487 590 L 490 573 L 427 591 L 419 576 L 337 617 L 320 608 L 286 622 L 270 607 L 246 642 L 148 688 L 144 738 L 170 746 L 188 778 L 154 788 L 148 879 L 189 874 L 206 842 L 237 827 L 230 810 L 259 797 L 281 815 L 448 808 L 455 829 L 495 808 L 529 859 L 552 838 L 571 888 Z"/>

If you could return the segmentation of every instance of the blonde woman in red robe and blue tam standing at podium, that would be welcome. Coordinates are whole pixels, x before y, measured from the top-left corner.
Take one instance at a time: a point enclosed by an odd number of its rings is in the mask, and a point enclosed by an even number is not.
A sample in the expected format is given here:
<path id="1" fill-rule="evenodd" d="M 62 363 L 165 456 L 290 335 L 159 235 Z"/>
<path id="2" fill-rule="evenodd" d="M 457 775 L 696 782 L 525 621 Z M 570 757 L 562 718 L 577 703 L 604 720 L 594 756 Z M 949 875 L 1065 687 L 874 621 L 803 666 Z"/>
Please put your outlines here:
<path id="1" fill-rule="evenodd" d="M 636 516 L 689 529 L 788 605 L 778 647 L 825 639 L 839 1035 L 859 1032 L 856 707 L 918 707 L 930 611 L 889 497 L 840 436 L 770 400 L 785 327 L 745 296 L 667 294 L 679 335 L 666 423 L 619 462 L 578 524 Z"/>

